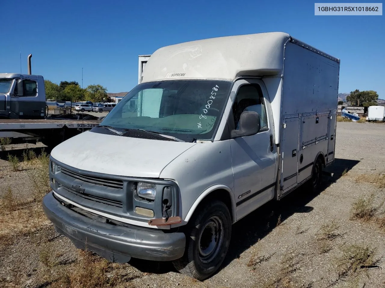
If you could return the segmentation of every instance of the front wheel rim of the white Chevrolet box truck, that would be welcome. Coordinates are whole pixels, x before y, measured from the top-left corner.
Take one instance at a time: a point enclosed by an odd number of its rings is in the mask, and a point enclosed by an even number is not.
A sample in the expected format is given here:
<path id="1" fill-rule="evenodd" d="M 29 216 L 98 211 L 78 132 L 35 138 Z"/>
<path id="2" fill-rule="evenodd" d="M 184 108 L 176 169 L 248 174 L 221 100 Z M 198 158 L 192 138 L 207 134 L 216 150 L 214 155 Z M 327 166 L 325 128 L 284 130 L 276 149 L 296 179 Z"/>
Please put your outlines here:
<path id="1" fill-rule="evenodd" d="M 223 222 L 217 217 L 211 217 L 204 223 L 199 234 L 199 258 L 203 263 L 208 263 L 217 257 L 224 238 Z"/>

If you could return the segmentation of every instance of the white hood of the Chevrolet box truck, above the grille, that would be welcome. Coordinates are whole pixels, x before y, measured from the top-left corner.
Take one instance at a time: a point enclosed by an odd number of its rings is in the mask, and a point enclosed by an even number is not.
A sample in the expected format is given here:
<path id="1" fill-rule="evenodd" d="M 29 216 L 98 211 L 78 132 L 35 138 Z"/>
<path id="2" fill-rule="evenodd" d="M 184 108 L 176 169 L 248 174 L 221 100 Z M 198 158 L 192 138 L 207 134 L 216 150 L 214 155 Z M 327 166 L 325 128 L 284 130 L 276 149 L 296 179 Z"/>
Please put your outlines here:
<path id="1" fill-rule="evenodd" d="M 60 143 L 51 156 L 86 171 L 159 178 L 167 164 L 194 145 L 85 131 Z"/>

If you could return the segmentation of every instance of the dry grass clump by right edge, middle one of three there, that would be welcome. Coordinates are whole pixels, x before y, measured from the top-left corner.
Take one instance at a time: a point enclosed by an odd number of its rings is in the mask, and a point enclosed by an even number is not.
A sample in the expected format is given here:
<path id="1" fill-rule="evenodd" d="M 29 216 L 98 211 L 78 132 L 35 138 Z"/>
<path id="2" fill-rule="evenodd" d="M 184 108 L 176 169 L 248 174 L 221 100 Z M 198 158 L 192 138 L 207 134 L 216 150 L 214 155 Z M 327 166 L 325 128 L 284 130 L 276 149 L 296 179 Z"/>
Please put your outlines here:
<path id="1" fill-rule="evenodd" d="M 371 220 L 383 206 L 384 201 L 376 205 L 374 202 L 375 194 L 371 194 L 367 199 L 360 197 L 352 205 L 351 219 Z"/>

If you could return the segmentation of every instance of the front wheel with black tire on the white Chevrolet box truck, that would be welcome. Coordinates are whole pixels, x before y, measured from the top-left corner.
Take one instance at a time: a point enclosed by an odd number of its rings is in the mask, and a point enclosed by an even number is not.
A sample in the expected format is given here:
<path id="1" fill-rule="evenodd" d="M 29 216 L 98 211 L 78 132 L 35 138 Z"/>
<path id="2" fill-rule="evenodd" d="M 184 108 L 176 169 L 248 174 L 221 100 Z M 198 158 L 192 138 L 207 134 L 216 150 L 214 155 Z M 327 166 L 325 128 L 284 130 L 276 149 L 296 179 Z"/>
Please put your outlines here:
<path id="1" fill-rule="evenodd" d="M 185 230 L 184 255 L 172 263 L 180 273 L 204 280 L 219 269 L 226 257 L 231 216 L 227 206 L 218 200 L 200 205 L 197 211 Z"/>

